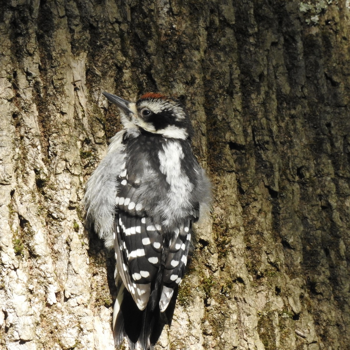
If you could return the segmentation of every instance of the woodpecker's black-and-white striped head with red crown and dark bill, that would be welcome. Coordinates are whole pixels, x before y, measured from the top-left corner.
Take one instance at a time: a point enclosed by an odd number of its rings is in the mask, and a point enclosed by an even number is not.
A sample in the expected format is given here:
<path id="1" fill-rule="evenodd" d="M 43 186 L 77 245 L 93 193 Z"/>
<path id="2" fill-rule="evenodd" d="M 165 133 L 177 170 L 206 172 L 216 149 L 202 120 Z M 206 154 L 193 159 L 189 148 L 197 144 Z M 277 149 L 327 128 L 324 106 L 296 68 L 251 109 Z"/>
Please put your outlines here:
<path id="1" fill-rule="evenodd" d="M 103 92 L 104 96 L 116 104 L 124 127 L 165 138 L 188 139 L 192 137 L 191 121 L 179 100 L 159 93 L 146 93 L 137 102 L 129 102 L 121 97 Z"/>

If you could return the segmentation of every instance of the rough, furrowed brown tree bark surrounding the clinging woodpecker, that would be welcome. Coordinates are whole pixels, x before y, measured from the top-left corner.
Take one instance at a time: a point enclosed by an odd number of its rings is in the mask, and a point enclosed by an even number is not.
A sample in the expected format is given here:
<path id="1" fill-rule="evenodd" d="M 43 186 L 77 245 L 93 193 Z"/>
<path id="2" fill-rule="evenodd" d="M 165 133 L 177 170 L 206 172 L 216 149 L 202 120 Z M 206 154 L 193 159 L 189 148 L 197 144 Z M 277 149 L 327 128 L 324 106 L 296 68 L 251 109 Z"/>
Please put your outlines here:
<path id="1" fill-rule="evenodd" d="M 104 90 L 182 99 L 214 185 L 157 349 L 350 349 L 348 0 L 0 6 L 0 349 L 113 349 Z"/>

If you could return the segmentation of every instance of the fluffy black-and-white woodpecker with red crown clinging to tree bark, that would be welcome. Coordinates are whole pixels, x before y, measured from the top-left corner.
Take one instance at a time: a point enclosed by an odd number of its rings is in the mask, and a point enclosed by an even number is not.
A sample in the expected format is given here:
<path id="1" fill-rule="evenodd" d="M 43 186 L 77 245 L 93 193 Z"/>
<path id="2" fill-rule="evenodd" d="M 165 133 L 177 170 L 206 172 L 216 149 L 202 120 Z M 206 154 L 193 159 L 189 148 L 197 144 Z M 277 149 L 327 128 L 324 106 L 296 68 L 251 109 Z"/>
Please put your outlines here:
<path id="1" fill-rule="evenodd" d="M 173 317 L 192 224 L 208 212 L 210 183 L 191 149 L 194 131 L 179 100 L 146 93 L 137 102 L 103 92 L 123 130 L 86 184 L 87 221 L 114 248 L 117 348 L 153 349 Z"/>

